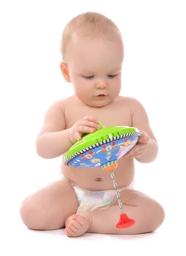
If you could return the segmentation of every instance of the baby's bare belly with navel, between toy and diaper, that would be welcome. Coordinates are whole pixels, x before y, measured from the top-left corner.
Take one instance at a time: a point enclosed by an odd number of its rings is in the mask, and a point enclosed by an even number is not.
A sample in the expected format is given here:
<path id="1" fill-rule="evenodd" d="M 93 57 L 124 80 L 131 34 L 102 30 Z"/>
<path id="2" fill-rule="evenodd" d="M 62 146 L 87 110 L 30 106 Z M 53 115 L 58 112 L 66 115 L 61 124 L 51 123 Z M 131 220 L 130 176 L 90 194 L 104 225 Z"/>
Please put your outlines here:
<path id="1" fill-rule="evenodd" d="M 110 172 L 105 172 L 101 167 L 76 168 L 64 165 L 61 166 L 62 174 L 72 183 L 89 190 L 114 189 L 113 179 Z M 129 186 L 135 175 L 134 160 L 120 158 L 117 169 L 113 171 L 118 188 Z"/>

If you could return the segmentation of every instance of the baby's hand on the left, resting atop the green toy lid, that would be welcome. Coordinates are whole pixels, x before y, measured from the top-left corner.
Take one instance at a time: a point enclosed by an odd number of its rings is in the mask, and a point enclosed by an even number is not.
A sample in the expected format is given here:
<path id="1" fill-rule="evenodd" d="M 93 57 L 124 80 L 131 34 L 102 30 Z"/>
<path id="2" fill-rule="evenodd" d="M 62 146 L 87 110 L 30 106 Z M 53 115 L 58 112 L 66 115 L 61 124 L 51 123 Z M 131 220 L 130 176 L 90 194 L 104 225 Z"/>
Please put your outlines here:
<path id="1" fill-rule="evenodd" d="M 85 116 L 79 119 L 69 130 L 69 139 L 71 143 L 75 144 L 82 139 L 85 133 L 93 133 L 101 129 L 98 125 L 99 121 L 93 116 Z"/>

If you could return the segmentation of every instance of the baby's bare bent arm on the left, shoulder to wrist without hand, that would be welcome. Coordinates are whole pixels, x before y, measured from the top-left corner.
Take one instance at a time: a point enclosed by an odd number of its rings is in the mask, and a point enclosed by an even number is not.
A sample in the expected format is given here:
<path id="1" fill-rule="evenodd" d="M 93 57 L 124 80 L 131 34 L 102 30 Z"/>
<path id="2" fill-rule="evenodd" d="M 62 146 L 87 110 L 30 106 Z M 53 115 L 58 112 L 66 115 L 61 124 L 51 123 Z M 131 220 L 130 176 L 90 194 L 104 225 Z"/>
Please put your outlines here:
<path id="1" fill-rule="evenodd" d="M 59 157 L 73 145 L 69 139 L 69 129 L 65 130 L 65 126 L 62 107 L 59 102 L 55 102 L 48 108 L 37 136 L 36 150 L 40 157 L 45 159 Z"/>

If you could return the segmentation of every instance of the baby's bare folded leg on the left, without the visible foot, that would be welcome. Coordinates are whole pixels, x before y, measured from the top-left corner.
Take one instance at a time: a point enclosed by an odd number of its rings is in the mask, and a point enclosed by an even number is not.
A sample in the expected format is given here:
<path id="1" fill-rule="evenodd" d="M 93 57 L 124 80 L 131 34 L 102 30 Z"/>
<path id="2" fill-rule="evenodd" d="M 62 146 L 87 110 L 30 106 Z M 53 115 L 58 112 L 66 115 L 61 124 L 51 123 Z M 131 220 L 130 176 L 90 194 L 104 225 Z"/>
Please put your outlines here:
<path id="1" fill-rule="evenodd" d="M 55 230 L 76 213 L 78 201 L 68 180 L 57 180 L 29 195 L 20 206 L 23 223 L 34 230 Z"/>

